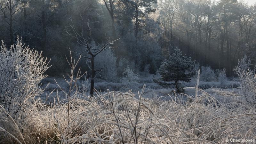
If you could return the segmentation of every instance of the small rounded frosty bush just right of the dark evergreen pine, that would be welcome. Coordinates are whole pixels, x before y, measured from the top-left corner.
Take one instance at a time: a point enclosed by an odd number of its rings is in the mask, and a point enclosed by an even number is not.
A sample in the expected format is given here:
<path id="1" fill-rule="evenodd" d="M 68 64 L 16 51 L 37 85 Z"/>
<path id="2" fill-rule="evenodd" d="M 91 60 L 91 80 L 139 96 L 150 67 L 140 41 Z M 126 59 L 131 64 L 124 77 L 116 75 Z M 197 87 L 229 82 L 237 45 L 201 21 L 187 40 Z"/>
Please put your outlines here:
<path id="1" fill-rule="evenodd" d="M 210 82 L 214 79 L 214 77 L 214 71 L 210 66 L 202 66 L 202 73 L 200 74 L 201 80 L 203 80 L 204 82 Z"/>

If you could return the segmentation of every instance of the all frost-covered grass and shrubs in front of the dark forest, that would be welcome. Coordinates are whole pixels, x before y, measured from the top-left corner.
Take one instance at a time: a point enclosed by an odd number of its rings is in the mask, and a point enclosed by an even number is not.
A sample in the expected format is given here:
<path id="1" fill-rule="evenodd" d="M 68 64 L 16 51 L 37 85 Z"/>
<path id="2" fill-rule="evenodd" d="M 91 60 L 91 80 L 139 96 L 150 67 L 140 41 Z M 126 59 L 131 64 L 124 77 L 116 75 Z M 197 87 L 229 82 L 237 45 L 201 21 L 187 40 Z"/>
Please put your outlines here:
<path id="1" fill-rule="evenodd" d="M 56 80 L 43 75 L 49 61 L 19 39 L 10 49 L 2 45 L 0 62 L 1 143 L 225 143 L 256 135 L 254 69 L 246 57 L 234 69 L 239 88 L 202 90 L 199 73 L 196 87 L 175 93 L 126 67 L 123 83 L 97 82 L 94 96 L 72 57 L 71 71 Z M 228 81 L 224 72 L 212 83 Z"/>

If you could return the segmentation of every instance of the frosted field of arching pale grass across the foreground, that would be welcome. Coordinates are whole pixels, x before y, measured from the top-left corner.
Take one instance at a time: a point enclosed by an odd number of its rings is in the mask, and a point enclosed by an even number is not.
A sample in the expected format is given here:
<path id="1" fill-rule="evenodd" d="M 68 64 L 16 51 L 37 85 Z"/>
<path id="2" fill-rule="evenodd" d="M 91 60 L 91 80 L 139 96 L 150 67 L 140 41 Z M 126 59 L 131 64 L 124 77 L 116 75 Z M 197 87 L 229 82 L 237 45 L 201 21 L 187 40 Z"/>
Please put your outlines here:
<path id="1" fill-rule="evenodd" d="M 19 115 L 1 105 L 1 143 L 226 143 L 256 136 L 255 108 L 236 88 L 177 94 L 142 86 L 91 97 L 61 85 L 29 100 Z"/>

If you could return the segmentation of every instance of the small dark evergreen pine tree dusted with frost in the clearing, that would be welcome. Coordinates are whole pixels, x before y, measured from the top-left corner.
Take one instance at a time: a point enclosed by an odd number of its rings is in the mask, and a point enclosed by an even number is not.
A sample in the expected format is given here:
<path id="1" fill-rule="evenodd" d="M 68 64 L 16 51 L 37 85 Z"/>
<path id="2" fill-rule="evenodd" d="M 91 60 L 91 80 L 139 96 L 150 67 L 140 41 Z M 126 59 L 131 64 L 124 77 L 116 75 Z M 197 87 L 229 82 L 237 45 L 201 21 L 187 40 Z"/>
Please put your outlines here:
<path id="1" fill-rule="evenodd" d="M 169 55 L 169 59 L 165 59 L 160 68 L 158 69 L 161 75 L 161 80 L 164 82 L 174 82 L 177 92 L 181 92 L 181 86 L 179 81 L 189 82 L 195 72 L 194 61 L 191 61 L 190 57 L 182 55 L 182 52 L 178 47 L 174 49 L 174 53 Z"/>

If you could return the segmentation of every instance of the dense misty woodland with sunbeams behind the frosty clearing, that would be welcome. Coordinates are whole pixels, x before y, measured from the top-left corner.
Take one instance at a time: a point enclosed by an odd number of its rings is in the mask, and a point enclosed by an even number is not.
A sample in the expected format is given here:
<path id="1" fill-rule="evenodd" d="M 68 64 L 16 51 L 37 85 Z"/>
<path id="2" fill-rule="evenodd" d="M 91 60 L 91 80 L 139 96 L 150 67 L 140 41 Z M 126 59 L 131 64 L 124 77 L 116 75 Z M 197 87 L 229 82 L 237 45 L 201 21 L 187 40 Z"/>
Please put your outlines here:
<path id="1" fill-rule="evenodd" d="M 0 39 L 15 44 L 19 35 L 26 45 L 43 51 L 54 65 L 50 76 L 66 72 L 68 48 L 83 51 L 69 32 L 76 28 L 88 37 L 87 23 L 90 44 L 118 39 L 114 48 L 97 56 L 96 66 L 111 67 L 119 76 L 124 63 L 136 72 L 155 74 L 177 46 L 201 65 L 226 68 L 228 76 L 238 59 L 247 55 L 254 62 L 256 54 L 256 6 L 243 1 L 1 0 L 0 4 Z M 79 64 L 86 71 L 87 59 L 82 59 Z"/>

